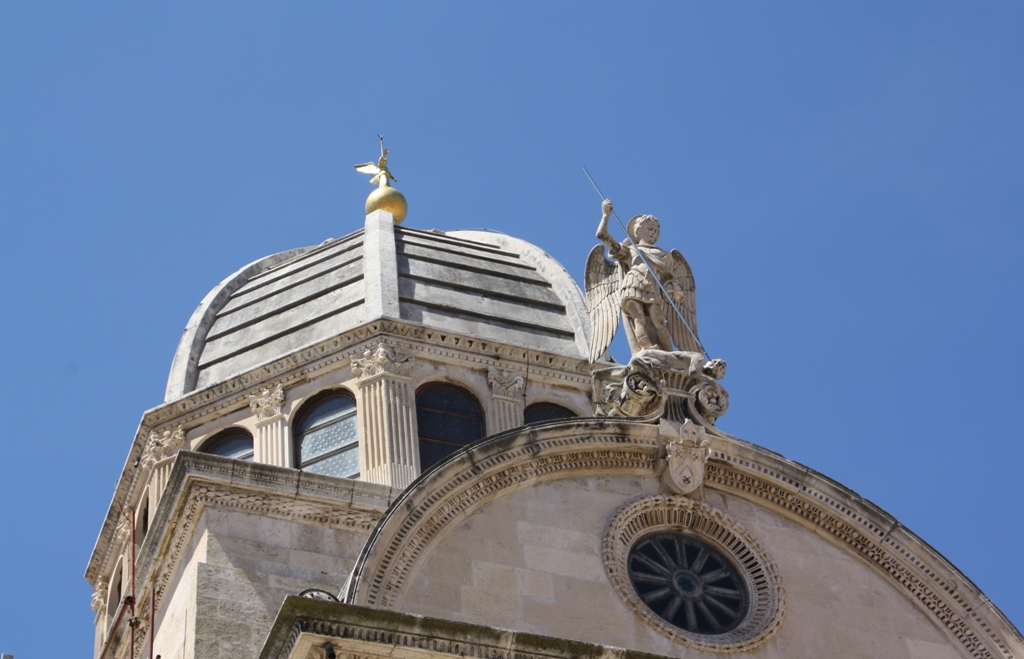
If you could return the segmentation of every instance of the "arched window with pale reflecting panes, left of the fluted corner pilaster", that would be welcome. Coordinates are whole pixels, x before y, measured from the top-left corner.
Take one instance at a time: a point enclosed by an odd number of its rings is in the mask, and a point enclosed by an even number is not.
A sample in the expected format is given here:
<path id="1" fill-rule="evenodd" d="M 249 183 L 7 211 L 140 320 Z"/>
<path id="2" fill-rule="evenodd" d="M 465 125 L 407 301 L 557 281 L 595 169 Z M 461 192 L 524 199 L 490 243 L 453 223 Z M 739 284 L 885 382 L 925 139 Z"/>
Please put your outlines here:
<path id="1" fill-rule="evenodd" d="M 339 478 L 359 477 L 355 398 L 332 391 L 309 401 L 295 424 L 299 469 Z"/>

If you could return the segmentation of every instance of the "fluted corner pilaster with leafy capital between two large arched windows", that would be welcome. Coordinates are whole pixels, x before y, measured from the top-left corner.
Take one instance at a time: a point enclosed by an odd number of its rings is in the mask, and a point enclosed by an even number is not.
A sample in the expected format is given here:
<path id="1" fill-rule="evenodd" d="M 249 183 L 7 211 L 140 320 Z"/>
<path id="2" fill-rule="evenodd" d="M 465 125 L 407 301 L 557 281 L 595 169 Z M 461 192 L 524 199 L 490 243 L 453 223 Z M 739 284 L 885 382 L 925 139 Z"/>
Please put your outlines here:
<path id="1" fill-rule="evenodd" d="M 359 474 L 365 481 L 408 487 L 420 473 L 416 393 L 409 377 L 412 361 L 412 356 L 384 343 L 352 360 L 362 394 Z"/>

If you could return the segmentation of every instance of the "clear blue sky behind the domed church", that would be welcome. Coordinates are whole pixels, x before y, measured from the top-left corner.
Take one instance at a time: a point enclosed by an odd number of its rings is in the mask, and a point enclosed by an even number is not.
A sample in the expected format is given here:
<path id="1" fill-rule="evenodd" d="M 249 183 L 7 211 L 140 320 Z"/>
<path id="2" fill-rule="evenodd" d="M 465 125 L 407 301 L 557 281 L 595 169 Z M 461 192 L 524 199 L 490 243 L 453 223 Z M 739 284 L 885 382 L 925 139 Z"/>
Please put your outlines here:
<path id="1" fill-rule="evenodd" d="M 382 132 L 407 225 L 578 279 L 581 165 L 658 215 L 720 426 L 1024 625 L 1024 5 L 5 2 L 0 651 L 88 655 L 82 574 L 189 314 L 359 227 Z"/>

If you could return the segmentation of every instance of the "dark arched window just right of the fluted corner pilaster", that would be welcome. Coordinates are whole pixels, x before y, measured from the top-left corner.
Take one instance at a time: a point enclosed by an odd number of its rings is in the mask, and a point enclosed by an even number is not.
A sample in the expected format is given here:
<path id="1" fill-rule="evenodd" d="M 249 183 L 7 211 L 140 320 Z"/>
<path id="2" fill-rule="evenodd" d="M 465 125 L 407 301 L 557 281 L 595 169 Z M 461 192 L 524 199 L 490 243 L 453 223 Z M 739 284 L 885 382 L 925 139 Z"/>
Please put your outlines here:
<path id="1" fill-rule="evenodd" d="M 416 394 L 420 469 L 483 437 L 483 412 L 468 392 L 451 385 L 427 385 Z"/>

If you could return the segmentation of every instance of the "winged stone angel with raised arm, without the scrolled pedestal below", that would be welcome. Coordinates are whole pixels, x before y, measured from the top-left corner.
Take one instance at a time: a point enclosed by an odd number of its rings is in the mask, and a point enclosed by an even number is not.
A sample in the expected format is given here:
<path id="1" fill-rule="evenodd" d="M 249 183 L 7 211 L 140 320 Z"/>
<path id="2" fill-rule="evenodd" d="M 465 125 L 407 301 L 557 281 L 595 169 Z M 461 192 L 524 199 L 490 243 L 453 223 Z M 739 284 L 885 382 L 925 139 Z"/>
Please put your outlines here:
<path id="1" fill-rule="evenodd" d="M 633 354 L 647 349 L 702 352 L 696 337 L 693 272 L 686 259 L 678 250 L 667 252 L 655 246 L 662 227 L 653 215 L 631 219 L 626 227 L 629 239 L 620 243 L 608 233 L 611 210 L 611 202 L 604 200 L 597 226 L 597 238 L 602 245 L 596 246 L 587 258 L 591 362 L 600 360 L 611 345 L 620 314 Z M 605 249 L 610 260 L 604 255 Z M 672 308 L 666 295 L 683 317 Z"/>

